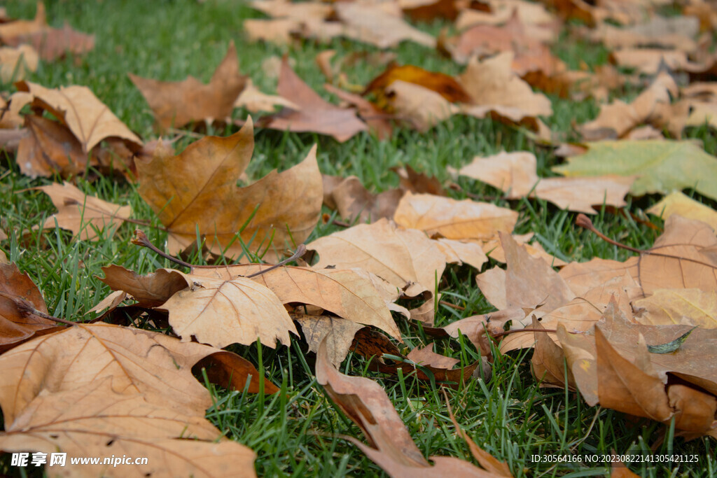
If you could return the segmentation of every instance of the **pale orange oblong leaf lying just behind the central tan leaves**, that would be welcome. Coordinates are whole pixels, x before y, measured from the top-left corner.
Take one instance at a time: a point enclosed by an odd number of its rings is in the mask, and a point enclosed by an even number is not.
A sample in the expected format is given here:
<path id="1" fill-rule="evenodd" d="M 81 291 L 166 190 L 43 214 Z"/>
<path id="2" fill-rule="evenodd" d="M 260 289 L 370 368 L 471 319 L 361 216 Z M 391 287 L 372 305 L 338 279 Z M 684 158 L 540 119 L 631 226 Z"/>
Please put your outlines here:
<path id="1" fill-rule="evenodd" d="M 493 204 L 407 192 L 394 221 L 447 239 L 490 239 L 498 231 L 511 232 L 518 213 Z"/>

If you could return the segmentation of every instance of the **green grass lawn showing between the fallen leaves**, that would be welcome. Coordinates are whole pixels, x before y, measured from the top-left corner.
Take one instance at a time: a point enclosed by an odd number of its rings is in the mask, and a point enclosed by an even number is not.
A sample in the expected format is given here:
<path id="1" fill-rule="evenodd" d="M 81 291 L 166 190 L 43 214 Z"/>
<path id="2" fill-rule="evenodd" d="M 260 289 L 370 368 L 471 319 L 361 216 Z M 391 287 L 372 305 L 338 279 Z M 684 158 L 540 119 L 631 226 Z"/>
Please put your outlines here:
<path id="1" fill-rule="evenodd" d="M 11 16 L 34 16 L 34 4 L 11 1 L 6 5 Z M 320 88 L 323 77 L 313 62 L 317 52 L 332 48 L 337 56 L 354 51 L 377 51 L 364 44 L 337 39 L 328 45 L 303 42 L 290 47 L 249 44 L 242 34 L 242 20 L 261 18 L 242 2 L 190 0 L 165 1 L 47 1 L 48 19 L 55 27 L 68 21 L 72 27 L 96 35 L 95 50 L 85 57 L 60 62 L 43 62 L 29 80 L 47 87 L 86 85 L 118 117 L 143 138 L 154 138 L 152 115 L 143 97 L 127 77 L 128 72 L 159 80 L 182 80 L 194 75 L 208 81 L 234 39 L 244 74 L 263 90 L 272 92 L 275 80 L 265 76 L 262 59 L 288 54 L 296 60 L 297 72 L 324 97 Z M 422 24 L 437 33 L 445 26 L 440 21 Z M 558 53 L 577 66 L 585 59 L 590 65 L 604 62 L 604 49 L 589 44 L 566 46 Z M 397 49 L 401 64 L 418 64 L 429 70 L 455 74 L 460 67 L 437 52 L 404 43 Z M 365 84 L 382 68 L 359 63 L 347 72 L 349 80 Z M 13 91 L 11 85 L 0 90 Z M 570 102 L 554 98 L 555 115 L 546 121 L 556 130 L 569 133 L 571 123 L 581 123 L 597 115 L 592 100 Z M 240 115 L 241 113 L 237 113 Z M 226 131 L 217 133 L 224 134 Z M 717 141 L 706 128 L 695 128 L 690 137 L 703 140 L 708 153 L 715 153 Z M 368 188 L 382 191 L 397 185 L 389 171 L 393 166 L 409 164 L 418 171 L 448 179 L 447 166 L 458 167 L 476 155 L 500 150 L 531 150 L 538 158 L 538 173 L 552 175 L 556 158 L 548 150 L 536 148 L 522 133 L 490 120 L 456 117 L 437 125 L 427 133 L 398 130 L 393 138 L 376 140 L 362 134 L 346 143 L 313 134 L 280 133 L 257 130 L 254 159 L 249 173 L 260 178 L 273 168 L 286 169 L 298 163 L 313 143 L 318 143 L 319 166 L 323 173 L 358 176 Z M 183 140 L 184 147 L 189 140 Z M 42 224 L 54 208 L 44 193 L 32 188 L 60 178 L 31 180 L 19 173 L 11 156 L 3 153 L 1 163 L 0 226 L 10 238 L 1 244 L 12 262 L 26 271 L 43 291 L 49 311 L 58 317 L 78 319 L 97 304 L 109 290 L 97 278 L 100 267 L 120 264 L 137 272 L 151 272 L 171 264 L 147 249 L 129 244 L 134 226 L 125 224 L 110 239 L 75 242 L 67 231 L 33 228 Z M 80 179 L 80 188 L 107 201 L 130 204 L 133 217 L 158 224 L 156 216 L 142 201 L 135 186 L 98 178 L 92 183 Z M 460 179 L 466 191 L 495 196 L 490 186 Z M 460 193 L 454 195 L 462 199 Z M 627 207 L 634 214 L 646 209 L 655 198 L 635 199 Z M 520 213 L 516 232 L 534 231 L 536 239 L 549 252 L 565 260 L 581 261 L 592 257 L 624 260 L 630 253 L 605 244 L 597 237 L 574 226 L 575 214 L 559 211 L 544 201 L 498 201 Z M 657 231 L 622 215 L 602 212 L 594 223 L 607 235 L 634 247 L 650 247 Z M 163 244 L 166 234 L 143 228 L 151 241 Z M 336 226 L 320 224 L 309 240 L 330 234 Z M 492 265 L 492 264 L 491 264 Z M 458 318 L 490 312 L 483 295 L 475 287 L 475 270 L 450 267 L 437 286 L 447 300 L 465 307 L 465 311 L 441 306 L 437 323 L 445 325 Z M 399 322 L 401 322 L 399 320 Z M 435 339 L 422 330 L 401 322 L 406 345 L 425 345 Z M 470 363 L 478 357 L 465 340 L 438 340 L 440 352 Z M 215 404 L 207 417 L 231 439 L 250 446 L 257 454 L 257 473 L 263 476 L 343 476 L 346 474 L 381 475 L 381 469 L 364 457 L 359 449 L 338 438 L 346 434 L 360 436 L 361 431 L 343 416 L 326 397 L 313 377 L 313 354 L 295 340 L 290 348 L 272 350 L 257 345 L 233 346 L 231 350 L 259 365 L 270 380 L 282 388 L 274 396 L 212 390 Z M 674 469 L 644 465 L 633 466 L 643 477 L 710 477 L 717 469 L 715 442 L 697 439 L 685 443 L 673 438 L 669 429 L 655 422 L 632 421 L 622 414 L 587 406 L 577 393 L 540 388 L 531 376 L 531 350 L 508 355 L 496 352 L 492 376 L 476 379 L 457 391 L 449 390 L 452 405 L 461 426 L 490 454 L 508 462 L 516 477 L 602 476 L 604 465 L 536 465 L 533 454 L 619 454 L 650 453 L 650 446 L 661 441 L 655 452 L 700 455 L 697 465 L 680 464 Z M 261 363 L 259 359 L 261 357 Z M 407 424 L 419 449 L 430 455 L 450 455 L 471 460 L 466 444 L 458 439 L 447 416 L 442 393 L 413 376 L 380 376 L 366 371 L 366 361 L 350 355 L 342 371 L 378 380 L 386 389 L 397 411 Z M 664 440 L 663 440 L 664 436 Z M 0 472 L 18 473 L 9 467 L 7 456 L 0 459 Z"/>

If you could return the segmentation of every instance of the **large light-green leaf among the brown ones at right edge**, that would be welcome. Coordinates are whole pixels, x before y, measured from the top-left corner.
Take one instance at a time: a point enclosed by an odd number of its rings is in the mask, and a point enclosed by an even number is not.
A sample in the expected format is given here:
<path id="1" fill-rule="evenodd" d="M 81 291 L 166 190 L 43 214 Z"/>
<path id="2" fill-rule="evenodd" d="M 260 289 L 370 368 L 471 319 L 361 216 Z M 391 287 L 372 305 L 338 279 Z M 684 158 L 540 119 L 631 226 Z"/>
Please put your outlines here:
<path id="1" fill-rule="evenodd" d="M 630 187 L 634 196 L 668 193 L 675 189 L 695 191 L 717 199 L 717 159 L 694 143 L 673 140 L 599 141 L 587 143 L 587 153 L 568 158 L 553 171 L 565 176 L 640 176 Z"/>

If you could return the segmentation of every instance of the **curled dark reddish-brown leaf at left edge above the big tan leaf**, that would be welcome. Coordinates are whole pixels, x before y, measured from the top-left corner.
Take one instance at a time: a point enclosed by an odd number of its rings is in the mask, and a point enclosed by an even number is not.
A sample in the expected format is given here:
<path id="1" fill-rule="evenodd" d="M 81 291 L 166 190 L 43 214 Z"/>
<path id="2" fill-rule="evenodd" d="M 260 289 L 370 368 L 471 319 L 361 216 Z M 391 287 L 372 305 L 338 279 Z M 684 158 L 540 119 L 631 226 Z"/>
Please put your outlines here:
<path id="1" fill-rule="evenodd" d="M 0 264 L 0 292 L 19 297 L 32 307 L 47 314 L 42 294 L 27 274 L 22 274 L 15 264 Z M 34 335 L 60 330 L 57 323 L 38 315 L 26 315 L 15 302 L 0 296 L 0 353 L 32 338 Z"/>

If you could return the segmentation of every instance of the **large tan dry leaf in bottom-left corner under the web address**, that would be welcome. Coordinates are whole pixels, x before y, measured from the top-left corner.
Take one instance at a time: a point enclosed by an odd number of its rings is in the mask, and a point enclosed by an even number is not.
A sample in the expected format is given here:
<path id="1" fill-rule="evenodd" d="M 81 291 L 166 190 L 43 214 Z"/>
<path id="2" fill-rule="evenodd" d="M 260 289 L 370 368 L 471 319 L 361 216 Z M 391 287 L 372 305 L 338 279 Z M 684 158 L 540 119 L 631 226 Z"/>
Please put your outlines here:
<path id="1" fill-rule="evenodd" d="M 209 393 L 206 393 L 209 395 Z M 3 411 L 8 406 L 3 403 Z M 6 419 L 0 446 L 6 451 L 62 451 L 70 456 L 128 454 L 147 457 L 132 474 L 176 477 L 255 476 L 254 452 L 229 439 L 203 414 L 189 415 L 146 401 L 141 393 L 119 393 L 111 378 L 65 391 L 34 395 L 14 421 Z M 220 441 L 215 442 L 215 440 Z M 51 472 L 49 465 L 47 471 Z M 54 471 L 54 470 L 52 470 Z M 63 472 L 77 477 L 127 476 L 128 469 L 68 463 Z"/>

